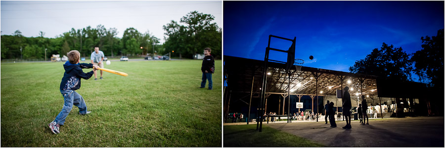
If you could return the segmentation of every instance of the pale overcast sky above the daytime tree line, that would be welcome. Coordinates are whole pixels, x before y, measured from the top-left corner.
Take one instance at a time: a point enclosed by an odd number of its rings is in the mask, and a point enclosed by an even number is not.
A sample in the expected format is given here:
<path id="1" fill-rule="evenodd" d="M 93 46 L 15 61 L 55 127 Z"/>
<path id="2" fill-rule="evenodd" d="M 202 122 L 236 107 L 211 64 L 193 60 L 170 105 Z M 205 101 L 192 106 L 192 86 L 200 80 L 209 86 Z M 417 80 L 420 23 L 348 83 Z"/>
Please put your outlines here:
<path id="1" fill-rule="evenodd" d="M 71 28 L 116 28 L 122 38 L 127 28 L 149 31 L 164 40 L 163 25 L 191 11 L 211 14 L 222 28 L 222 1 L 4 1 L 1 0 L 1 35 L 20 30 L 25 37 L 54 38 Z"/>

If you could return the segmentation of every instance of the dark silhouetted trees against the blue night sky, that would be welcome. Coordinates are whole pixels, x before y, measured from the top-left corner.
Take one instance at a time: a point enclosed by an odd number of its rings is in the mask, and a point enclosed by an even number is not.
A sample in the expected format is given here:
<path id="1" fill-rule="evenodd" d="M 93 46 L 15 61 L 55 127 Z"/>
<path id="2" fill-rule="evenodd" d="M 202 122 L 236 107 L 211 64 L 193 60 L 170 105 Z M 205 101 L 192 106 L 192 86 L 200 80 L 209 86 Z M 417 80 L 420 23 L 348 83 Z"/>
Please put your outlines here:
<path id="1" fill-rule="evenodd" d="M 421 37 L 422 48 L 407 54 L 402 47 L 383 43 L 375 48 L 365 59 L 357 60 L 349 68 L 351 73 L 376 75 L 383 78 L 413 81 L 412 73 L 419 76 L 419 81 L 430 87 L 444 89 L 444 29 L 437 36 Z"/>

